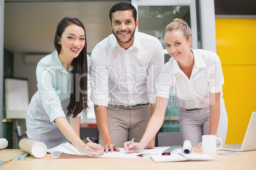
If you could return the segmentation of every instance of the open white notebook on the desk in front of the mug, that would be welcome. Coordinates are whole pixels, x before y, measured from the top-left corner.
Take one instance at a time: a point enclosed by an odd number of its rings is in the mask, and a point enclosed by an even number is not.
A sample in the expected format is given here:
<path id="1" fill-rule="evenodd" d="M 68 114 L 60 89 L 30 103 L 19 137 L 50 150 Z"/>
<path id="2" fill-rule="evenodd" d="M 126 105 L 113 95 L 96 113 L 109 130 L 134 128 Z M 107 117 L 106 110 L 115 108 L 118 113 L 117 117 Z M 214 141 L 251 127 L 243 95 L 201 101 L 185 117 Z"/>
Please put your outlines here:
<path id="1" fill-rule="evenodd" d="M 182 149 L 178 149 L 173 155 L 151 155 L 150 158 L 154 162 L 178 162 L 178 161 L 188 161 L 188 160 L 197 160 L 197 161 L 216 161 L 214 157 L 210 157 L 206 154 L 184 154 Z"/>

